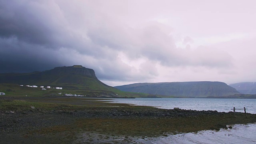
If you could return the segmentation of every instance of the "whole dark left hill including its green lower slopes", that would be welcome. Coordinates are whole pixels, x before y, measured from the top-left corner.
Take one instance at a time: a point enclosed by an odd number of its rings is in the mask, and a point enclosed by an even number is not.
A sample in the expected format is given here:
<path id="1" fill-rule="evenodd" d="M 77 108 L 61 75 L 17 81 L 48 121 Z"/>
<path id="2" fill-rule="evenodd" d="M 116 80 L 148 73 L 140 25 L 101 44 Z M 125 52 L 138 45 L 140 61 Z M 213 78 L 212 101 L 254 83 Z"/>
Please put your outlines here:
<path id="1" fill-rule="evenodd" d="M 24 85 L 24 86 L 20 86 Z M 27 87 L 36 85 L 38 88 Z M 40 86 L 51 86 L 41 90 Z M 53 89 L 62 87 L 62 90 Z M 97 79 L 94 70 L 83 66 L 63 66 L 32 73 L 0 74 L 0 92 L 11 95 L 80 94 L 90 97 L 145 97 L 148 94 L 122 92 Z"/>

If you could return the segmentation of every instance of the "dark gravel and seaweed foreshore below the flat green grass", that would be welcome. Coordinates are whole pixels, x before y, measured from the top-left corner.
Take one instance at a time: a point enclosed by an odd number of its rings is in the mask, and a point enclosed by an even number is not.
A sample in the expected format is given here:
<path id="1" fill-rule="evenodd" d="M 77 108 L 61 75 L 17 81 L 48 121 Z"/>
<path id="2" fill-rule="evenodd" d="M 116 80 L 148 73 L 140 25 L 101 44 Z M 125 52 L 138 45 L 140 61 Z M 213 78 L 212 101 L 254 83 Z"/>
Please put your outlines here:
<path id="1" fill-rule="evenodd" d="M 119 136 L 126 136 L 126 138 L 133 136 L 154 137 L 176 131 L 179 132 L 179 128 L 180 132 L 184 132 L 184 130 L 185 132 L 192 132 L 202 129 L 218 130 L 219 128 L 226 128 L 226 124 L 256 122 L 255 114 L 248 114 L 249 118 L 243 117 L 245 117 L 244 113 L 236 113 L 235 118 L 232 112 L 158 108 L 86 108 L 84 110 L 42 110 L 35 108 L 20 112 L 1 111 L 0 143 L 80 143 L 78 139 L 84 139 L 86 136 L 80 138 L 78 136 L 84 133 L 92 137 L 88 138 L 89 141 L 84 142 L 94 143 L 98 139 L 95 138 L 95 135 L 99 137 L 98 135 L 102 134 L 109 136 L 108 138 L 111 139 L 111 136 L 113 138 L 118 136 L 118 129 L 120 128 L 122 128 L 122 132 L 119 133 Z M 197 125 L 193 120 L 201 121 L 202 123 Z M 143 125 L 148 121 L 152 124 Z M 168 121 L 176 123 L 169 123 Z M 179 122 L 177 123 L 177 121 Z M 95 123 L 93 124 L 92 122 Z M 162 126 L 167 126 L 166 122 L 168 126 L 176 127 L 176 129 L 161 128 Z M 110 124 L 117 131 L 99 126 L 98 123 Z M 141 128 L 130 132 L 129 128 L 123 128 L 129 124 L 130 126 L 141 125 Z M 156 125 L 160 128 L 155 129 L 154 132 L 148 130 L 148 127 Z M 144 130 L 145 132 L 143 132 Z M 129 143 L 128 141 L 127 143 Z M 97 140 L 97 142 L 100 143 L 101 141 Z"/>

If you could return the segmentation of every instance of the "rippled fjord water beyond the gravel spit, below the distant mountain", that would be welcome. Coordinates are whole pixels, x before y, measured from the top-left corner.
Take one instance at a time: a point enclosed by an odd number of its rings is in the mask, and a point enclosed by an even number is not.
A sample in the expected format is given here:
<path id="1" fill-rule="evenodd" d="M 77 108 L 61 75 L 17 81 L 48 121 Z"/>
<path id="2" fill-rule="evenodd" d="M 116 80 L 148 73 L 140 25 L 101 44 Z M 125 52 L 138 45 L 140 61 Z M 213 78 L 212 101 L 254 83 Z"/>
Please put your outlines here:
<path id="1" fill-rule="evenodd" d="M 247 108 L 246 112 L 256 114 L 256 99 L 222 99 L 222 98 L 113 98 L 111 103 L 135 104 L 138 106 L 154 106 L 157 108 L 186 110 L 217 110 L 230 112 L 235 108 Z M 244 110 L 236 110 L 244 112 Z"/>

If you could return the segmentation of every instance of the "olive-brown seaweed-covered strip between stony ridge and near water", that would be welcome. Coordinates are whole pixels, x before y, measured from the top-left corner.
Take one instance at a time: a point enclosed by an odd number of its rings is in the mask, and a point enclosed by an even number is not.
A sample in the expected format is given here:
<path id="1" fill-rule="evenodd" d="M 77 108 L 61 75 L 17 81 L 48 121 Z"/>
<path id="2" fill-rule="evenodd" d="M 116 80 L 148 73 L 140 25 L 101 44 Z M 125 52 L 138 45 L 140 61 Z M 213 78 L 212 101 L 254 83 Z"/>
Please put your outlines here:
<path id="1" fill-rule="evenodd" d="M 39 133 L 93 132 L 107 136 L 147 138 L 200 130 L 220 130 L 226 125 L 250 122 L 255 122 L 254 115 L 251 118 L 245 118 L 244 114 L 238 114 L 236 118 L 232 114 L 189 118 L 81 118 L 70 125 L 43 128 Z"/>

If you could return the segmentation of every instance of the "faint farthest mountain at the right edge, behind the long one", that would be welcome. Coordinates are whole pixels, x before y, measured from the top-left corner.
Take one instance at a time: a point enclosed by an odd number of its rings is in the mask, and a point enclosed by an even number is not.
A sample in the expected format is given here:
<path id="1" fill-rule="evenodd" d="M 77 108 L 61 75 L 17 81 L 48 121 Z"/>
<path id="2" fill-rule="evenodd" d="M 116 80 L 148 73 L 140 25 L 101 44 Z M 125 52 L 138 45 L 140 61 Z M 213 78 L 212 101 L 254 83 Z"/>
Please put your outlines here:
<path id="1" fill-rule="evenodd" d="M 241 94 L 256 94 L 256 82 L 240 82 L 229 86 L 232 86 Z"/>

